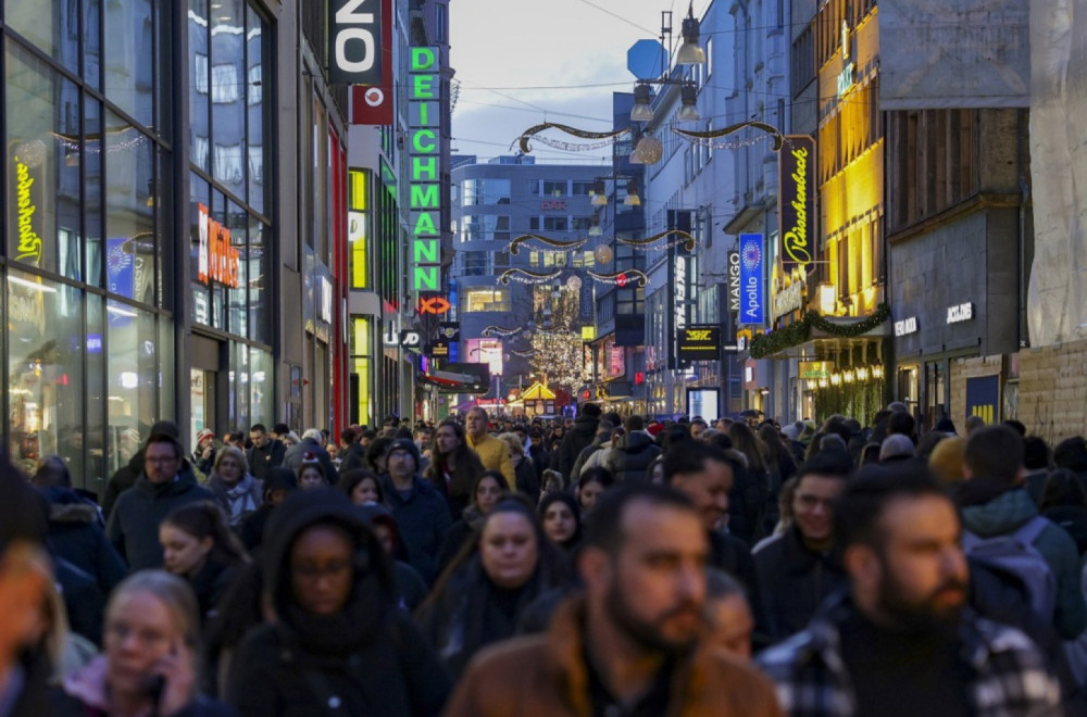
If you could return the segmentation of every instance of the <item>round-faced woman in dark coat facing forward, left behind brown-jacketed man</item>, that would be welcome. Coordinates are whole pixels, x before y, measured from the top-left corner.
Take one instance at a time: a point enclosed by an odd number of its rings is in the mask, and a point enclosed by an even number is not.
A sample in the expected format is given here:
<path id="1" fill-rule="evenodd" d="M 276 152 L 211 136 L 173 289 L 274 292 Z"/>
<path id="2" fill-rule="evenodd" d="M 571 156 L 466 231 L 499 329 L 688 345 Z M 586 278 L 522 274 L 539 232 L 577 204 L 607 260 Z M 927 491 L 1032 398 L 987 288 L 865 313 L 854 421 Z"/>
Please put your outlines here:
<path id="1" fill-rule="evenodd" d="M 455 679 L 479 649 L 513 637 L 533 600 L 563 582 L 562 557 L 532 505 L 510 495 L 438 579 L 418 619 Z"/>

